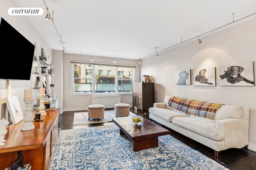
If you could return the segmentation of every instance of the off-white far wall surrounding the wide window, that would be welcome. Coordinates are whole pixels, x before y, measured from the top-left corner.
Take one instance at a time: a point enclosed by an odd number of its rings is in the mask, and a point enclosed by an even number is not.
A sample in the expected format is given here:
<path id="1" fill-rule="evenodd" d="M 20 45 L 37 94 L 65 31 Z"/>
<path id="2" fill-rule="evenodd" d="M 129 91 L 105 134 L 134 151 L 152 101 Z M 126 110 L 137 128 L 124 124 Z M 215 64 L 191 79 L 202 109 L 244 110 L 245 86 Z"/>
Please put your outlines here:
<path id="1" fill-rule="evenodd" d="M 112 58 L 107 57 L 92 57 L 94 63 L 106 63 L 113 64 Z M 92 104 L 92 95 L 72 95 L 72 68 L 71 61 L 85 61 L 91 62 L 90 56 L 80 56 L 74 54 L 63 54 L 63 109 L 74 110 L 80 108 L 87 108 L 88 105 Z M 140 64 L 138 61 L 134 60 L 124 60 L 124 59 L 115 59 L 115 64 L 126 64 L 126 65 L 136 65 L 135 68 L 135 82 L 139 82 L 140 80 Z M 95 95 L 95 94 L 93 94 Z M 132 94 L 129 95 L 121 95 L 121 102 L 128 103 L 132 105 Z"/>

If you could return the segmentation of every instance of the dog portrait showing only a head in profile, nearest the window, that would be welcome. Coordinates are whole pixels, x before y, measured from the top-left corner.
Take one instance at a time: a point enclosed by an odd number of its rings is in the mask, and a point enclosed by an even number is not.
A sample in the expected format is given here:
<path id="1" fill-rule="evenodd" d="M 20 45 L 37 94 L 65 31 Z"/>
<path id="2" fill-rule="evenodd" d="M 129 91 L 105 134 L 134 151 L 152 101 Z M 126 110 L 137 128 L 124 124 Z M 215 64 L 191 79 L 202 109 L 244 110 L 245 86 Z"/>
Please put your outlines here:
<path id="1" fill-rule="evenodd" d="M 191 85 L 190 69 L 175 71 L 175 82 L 177 85 Z"/>

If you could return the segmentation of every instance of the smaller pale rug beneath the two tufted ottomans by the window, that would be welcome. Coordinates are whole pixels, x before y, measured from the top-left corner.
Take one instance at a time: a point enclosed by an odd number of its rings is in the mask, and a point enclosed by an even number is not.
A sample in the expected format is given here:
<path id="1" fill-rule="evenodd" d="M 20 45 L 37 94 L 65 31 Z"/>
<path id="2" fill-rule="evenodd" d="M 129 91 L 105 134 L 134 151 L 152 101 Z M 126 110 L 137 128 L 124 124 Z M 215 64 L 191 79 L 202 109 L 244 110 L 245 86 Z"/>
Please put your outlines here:
<path id="1" fill-rule="evenodd" d="M 136 116 L 134 113 L 130 112 L 129 116 Z M 102 123 L 102 122 L 110 122 L 112 118 L 116 117 L 115 110 L 105 110 L 104 119 L 90 119 L 88 120 L 88 112 L 78 112 L 74 113 L 74 121 L 73 125 L 82 125 L 82 124 L 89 124 L 89 123 Z"/>

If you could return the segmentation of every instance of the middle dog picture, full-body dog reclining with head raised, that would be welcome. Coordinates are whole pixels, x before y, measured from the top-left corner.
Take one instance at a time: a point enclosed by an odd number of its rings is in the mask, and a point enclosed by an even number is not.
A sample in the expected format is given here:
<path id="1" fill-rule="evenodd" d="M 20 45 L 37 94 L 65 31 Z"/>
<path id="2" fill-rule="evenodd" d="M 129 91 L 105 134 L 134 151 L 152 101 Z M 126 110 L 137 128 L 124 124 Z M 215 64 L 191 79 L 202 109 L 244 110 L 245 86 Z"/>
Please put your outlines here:
<path id="1" fill-rule="evenodd" d="M 215 67 L 193 70 L 195 86 L 216 86 Z"/>

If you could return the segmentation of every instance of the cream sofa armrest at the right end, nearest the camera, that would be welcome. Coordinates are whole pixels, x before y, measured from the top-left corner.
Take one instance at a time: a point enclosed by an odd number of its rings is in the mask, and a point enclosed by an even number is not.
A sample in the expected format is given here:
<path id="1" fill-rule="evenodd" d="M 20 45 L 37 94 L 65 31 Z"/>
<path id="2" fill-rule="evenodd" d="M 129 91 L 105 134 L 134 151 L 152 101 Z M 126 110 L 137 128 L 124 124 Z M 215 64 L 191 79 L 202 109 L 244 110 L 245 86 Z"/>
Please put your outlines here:
<path id="1" fill-rule="evenodd" d="M 249 121 L 247 119 L 228 118 L 216 121 L 216 129 L 225 134 L 225 148 L 242 148 L 248 145 Z"/>

